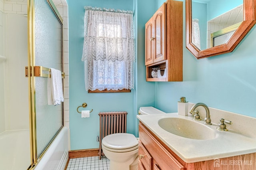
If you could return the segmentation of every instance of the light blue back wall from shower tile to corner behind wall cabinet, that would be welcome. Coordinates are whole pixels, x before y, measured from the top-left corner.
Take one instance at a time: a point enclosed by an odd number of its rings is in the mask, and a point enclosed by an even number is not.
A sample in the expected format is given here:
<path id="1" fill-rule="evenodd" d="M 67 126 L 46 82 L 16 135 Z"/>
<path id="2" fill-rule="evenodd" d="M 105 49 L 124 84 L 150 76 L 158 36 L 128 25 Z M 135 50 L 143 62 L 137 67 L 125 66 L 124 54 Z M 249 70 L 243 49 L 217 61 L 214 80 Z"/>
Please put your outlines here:
<path id="1" fill-rule="evenodd" d="M 154 0 L 75 0 L 69 1 L 69 74 L 71 150 L 98 148 L 101 111 L 127 111 L 127 132 L 138 136 L 136 115 L 141 106 L 154 106 L 154 82 L 146 82 L 144 59 L 145 23 L 154 14 Z M 131 93 L 87 93 L 84 87 L 84 63 L 81 61 L 84 41 L 84 6 L 134 10 L 136 30 L 135 90 Z M 137 22 L 138 21 L 138 22 Z M 80 118 L 76 108 L 86 102 L 94 109 L 90 118 Z M 80 108 L 81 109 L 81 108 Z"/>

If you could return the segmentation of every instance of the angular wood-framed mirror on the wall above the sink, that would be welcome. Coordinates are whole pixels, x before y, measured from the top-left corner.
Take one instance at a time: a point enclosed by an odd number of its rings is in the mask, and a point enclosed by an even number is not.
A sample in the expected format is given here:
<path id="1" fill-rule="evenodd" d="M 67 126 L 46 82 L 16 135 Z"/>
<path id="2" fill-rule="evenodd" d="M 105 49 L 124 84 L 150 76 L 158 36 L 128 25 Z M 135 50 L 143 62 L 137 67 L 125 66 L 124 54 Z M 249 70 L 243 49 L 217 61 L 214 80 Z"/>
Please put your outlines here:
<path id="1" fill-rule="evenodd" d="M 256 23 L 255 0 L 186 0 L 186 47 L 197 58 L 234 50 Z"/>

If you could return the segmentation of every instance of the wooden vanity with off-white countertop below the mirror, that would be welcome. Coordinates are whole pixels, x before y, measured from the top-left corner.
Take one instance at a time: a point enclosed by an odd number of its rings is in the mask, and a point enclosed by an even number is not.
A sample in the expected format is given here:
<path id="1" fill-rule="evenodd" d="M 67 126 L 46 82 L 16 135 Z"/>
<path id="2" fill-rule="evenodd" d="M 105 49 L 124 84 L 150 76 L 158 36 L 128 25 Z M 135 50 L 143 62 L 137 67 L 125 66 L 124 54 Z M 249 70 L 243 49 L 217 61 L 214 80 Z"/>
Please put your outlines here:
<path id="1" fill-rule="evenodd" d="M 202 133 L 203 137 L 193 134 L 198 139 L 192 139 L 193 136 L 191 138 L 181 137 L 160 127 L 162 126 L 160 125 L 161 119 L 184 119 L 192 122 L 191 125 L 188 125 L 192 127 L 188 128 L 197 130 L 197 127 L 193 127 L 192 118 L 188 116 L 168 113 L 137 115 L 137 118 L 140 120 L 139 170 L 256 169 L 256 138 L 254 136 L 236 133 L 233 130 L 219 131 L 216 130 L 218 125 L 213 123 L 210 125 L 212 134 L 209 132 L 204 134 L 199 130 L 198 133 Z M 201 126 L 202 122 L 196 121 L 196 124 L 199 123 Z M 208 125 L 205 126 L 209 128 Z"/>

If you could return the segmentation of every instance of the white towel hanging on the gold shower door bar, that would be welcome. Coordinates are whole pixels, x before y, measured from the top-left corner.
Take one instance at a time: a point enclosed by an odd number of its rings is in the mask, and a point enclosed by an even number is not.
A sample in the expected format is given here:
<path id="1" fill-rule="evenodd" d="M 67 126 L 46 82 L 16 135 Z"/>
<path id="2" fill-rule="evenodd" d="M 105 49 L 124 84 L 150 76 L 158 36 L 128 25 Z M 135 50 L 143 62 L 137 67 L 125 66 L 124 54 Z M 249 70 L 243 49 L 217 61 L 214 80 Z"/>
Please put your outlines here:
<path id="1" fill-rule="evenodd" d="M 61 71 L 50 68 L 51 77 L 48 77 L 47 82 L 47 95 L 48 105 L 60 105 L 64 102 L 63 89 L 62 89 L 62 75 Z"/>

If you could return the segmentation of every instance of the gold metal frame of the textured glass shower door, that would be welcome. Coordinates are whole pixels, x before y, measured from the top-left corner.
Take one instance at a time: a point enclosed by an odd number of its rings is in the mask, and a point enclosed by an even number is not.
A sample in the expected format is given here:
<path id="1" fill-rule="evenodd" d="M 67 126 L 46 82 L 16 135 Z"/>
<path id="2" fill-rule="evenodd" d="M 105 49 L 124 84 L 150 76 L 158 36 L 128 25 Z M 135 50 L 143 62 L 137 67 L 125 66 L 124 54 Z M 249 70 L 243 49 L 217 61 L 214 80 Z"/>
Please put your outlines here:
<path id="1" fill-rule="evenodd" d="M 64 123 L 64 108 L 62 105 L 62 127 L 58 130 L 54 138 L 50 141 L 46 149 L 42 154 L 37 158 L 37 140 L 36 140 L 36 82 L 34 75 L 34 66 L 35 66 L 35 1 L 28 0 L 28 90 L 29 90 L 29 118 L 30 118 L 30 158 L 31 164 L 28 170 L 35 168 L 38 161 L 42 158 L 46 150 L 50 147 L 53 140 L 59 134 L 60 130 L 63 127 Z M 54 12 L 56 18 L 61 24 L 61 35 L 62 35 L 62 71 L 63 71 L 63 20 L 52 2 L 52 0 L 46 0 Z M 63 81 L 63 79 L 62 79 Z M 62 82 L 63 84 L 63 82 Z M 47 94 L 46 94 L 47 95 Z"/>

